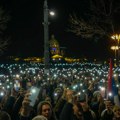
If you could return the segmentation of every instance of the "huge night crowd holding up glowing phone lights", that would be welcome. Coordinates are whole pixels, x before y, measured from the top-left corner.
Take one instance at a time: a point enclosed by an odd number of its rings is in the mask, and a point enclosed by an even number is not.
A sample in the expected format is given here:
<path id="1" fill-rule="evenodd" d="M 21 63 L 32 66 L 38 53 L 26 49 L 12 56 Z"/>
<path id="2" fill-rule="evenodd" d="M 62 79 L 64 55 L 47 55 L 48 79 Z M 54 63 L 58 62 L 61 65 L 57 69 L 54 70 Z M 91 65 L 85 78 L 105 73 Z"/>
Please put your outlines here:
<path id="1" fill-rule="evenodd" d="M 108 95 L 109 69 L 54 63 L 44 74 L 41 63 L 0 64 L 0 120 L 120 120 L 115 94 Z M 120 100 L 120 68 L 112 70 Z"/>

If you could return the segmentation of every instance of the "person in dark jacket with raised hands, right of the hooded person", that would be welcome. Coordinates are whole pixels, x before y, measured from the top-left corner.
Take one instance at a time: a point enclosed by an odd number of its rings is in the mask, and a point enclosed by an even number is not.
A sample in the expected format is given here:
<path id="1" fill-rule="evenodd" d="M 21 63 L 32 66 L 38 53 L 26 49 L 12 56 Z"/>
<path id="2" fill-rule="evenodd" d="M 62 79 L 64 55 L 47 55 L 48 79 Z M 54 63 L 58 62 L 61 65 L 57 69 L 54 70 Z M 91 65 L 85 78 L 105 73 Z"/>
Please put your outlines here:
<path id="1" fill-rule="evenodd" d="M 74 91 L 71 89 L 66 91 L 66 103 L 59 118 L 59 120 L 84 120 L 82 106 L 75 100 Z"/>

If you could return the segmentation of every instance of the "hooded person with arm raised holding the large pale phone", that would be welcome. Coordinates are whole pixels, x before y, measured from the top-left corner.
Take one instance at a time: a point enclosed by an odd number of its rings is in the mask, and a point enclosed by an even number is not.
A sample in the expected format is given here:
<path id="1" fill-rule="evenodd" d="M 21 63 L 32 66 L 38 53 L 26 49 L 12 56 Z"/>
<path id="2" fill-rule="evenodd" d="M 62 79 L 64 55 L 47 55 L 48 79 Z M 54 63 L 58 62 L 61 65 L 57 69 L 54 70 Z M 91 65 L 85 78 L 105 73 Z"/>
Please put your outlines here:
<path id="1" fill-rule="evenodd" d="M 47 120 L 56 120 L 52 105 L 49 101 L 41 101 L 37 107 L 37 116 L 31 116 L 33 106 L 31 106 L 30 95 L 30 92 L 28 92 L 24 97 L 20 111 L 20 120 L 31 120 L 33 117 L 37 117 L 38 115 L 46 117 Z"/>

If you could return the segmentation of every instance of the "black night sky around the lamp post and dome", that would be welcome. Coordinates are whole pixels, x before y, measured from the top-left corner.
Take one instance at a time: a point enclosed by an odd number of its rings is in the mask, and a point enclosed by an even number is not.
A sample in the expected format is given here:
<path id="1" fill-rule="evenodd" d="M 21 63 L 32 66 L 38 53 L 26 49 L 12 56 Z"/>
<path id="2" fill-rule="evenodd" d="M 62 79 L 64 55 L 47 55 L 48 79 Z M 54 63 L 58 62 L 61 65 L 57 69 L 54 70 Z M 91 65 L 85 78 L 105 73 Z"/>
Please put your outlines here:
<path id="1" fill-rule="evenodd" d="M 108 41 L 86 40 L 67 32 L 69 15 L 85 12 L 89 0 L 48 0 L 48 7 L 56 12 L 49 18 L 49 37 L 54 34 L 65 56 L 80 58 L 109 57 Z M 11 15 L 7 32 L 11 36 L 5 56 L 43 56 L 43 0 L 1 0 Z"/>

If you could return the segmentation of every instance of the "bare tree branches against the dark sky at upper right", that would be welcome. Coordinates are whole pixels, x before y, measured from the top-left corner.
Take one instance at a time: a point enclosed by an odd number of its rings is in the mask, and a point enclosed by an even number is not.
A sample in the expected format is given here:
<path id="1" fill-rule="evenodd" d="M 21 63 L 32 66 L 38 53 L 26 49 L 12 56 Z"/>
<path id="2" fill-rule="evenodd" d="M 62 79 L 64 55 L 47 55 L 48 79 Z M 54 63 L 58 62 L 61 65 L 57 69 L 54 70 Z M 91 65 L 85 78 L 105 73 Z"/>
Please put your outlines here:
<path id="1" fill-rule="evenodd" d="M 68 31 L 83 38 L 91 38 L 95 34 L 109 36 L 115 32 L 114 16 L 118 13 L 119 0 L 90 0 L 90 10 L 85 13 L 87 17 L 70 15 Z"/>

